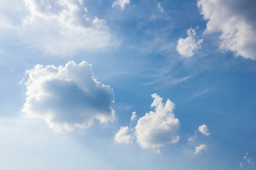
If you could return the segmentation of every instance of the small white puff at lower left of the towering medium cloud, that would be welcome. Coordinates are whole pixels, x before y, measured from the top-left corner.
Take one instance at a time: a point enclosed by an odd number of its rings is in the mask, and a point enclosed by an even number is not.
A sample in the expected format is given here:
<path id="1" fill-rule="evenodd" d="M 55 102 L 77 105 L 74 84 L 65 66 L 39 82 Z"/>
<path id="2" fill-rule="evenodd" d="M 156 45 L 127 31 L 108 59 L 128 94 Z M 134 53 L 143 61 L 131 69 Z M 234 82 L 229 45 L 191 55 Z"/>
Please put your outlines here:
<path id="1" fill-rule="evenodd" d="M 114 141 L 118 143 L 132 143 L 132 137 L 131 135 L 127 135 L 128 132 L 128 126 L 121 127 L 120 130 L 114 136 Z"/>

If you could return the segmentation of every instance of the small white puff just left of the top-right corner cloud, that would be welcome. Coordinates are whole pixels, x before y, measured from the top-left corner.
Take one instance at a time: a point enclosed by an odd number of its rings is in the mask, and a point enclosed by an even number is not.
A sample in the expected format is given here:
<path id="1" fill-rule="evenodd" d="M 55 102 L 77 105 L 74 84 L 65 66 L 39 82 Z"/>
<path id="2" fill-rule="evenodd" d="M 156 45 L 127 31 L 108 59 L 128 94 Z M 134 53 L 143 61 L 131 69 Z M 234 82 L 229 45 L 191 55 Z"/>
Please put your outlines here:
<path id="1" fill-rule="evenodd" d="M 188 37 L 178 39 L 178 45 L 176 47 L 177 52 L 184 57 L 192 57 L 196 50 L 201 48 L 203 39 L 196 40 L 196 30 L 190 28 L 187 30 Z"/>

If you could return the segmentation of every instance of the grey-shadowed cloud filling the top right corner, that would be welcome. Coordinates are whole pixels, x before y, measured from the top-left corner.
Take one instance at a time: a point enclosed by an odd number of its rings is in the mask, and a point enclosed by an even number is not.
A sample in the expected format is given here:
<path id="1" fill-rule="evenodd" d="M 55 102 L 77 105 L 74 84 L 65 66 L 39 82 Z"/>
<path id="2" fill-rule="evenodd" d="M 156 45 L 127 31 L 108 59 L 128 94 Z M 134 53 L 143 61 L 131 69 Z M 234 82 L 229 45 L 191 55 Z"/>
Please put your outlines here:
<path id="1" fill-rule="evenodd" d="M 236 56 L 256 59 L 256 1 L 199 0 L 207 21 L 205 33 L 220 33 L 220 48 Z"/>

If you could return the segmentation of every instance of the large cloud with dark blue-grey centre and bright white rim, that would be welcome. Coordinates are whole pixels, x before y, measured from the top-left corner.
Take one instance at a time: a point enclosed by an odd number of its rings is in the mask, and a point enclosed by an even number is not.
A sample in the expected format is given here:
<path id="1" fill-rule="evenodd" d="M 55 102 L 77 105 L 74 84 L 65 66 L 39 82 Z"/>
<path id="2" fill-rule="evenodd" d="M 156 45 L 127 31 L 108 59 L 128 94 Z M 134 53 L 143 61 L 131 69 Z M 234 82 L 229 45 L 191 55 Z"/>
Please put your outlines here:
<path id="1" fill-rule="evenodd" d="M 26 116 L 42 118 L 58 132 L 89 128 L 95 119 L 100 123 L 114 121 L 110 106 L 114 92 L 93 77 L 91 64 L 37 64 L 26 74 L 26 102 L 22 109 Z"/>

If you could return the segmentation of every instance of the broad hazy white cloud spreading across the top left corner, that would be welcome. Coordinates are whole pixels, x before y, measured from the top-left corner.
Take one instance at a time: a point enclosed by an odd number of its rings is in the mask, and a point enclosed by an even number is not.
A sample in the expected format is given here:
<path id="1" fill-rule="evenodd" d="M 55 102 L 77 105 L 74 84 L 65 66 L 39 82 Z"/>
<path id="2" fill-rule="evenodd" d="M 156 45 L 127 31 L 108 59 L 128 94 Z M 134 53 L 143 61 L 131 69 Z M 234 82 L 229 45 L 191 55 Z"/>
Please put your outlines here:
<path id="1" fill-rule="evenodd" d="M 107 22 L 89 16 L 82 0 L 14 2 L 20 8 L 6 5 L 11 12 L 0 12 L 3 23 L 0 33 L 12 34 L 16 41 L 28 47 L 51 55 L 70 55 L 78 50 L 103 49 L 114 40 Z"/>

